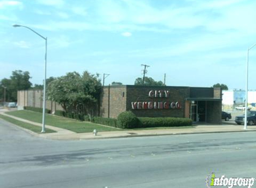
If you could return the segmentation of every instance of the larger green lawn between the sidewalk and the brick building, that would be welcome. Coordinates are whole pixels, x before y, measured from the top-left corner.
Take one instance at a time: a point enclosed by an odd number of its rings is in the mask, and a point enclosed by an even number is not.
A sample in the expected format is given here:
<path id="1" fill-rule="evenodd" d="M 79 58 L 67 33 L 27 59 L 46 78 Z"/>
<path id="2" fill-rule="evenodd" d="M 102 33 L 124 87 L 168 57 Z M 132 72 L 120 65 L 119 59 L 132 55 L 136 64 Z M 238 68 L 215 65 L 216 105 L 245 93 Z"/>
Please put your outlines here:
<path id="1" fill-rule="evenodd" d="M 39 113 L 39 112 L 33 112 L 29 110 L 18 110 L 18 111 L 6 112 L 6 114 L 13 115 L 22 119 L 27 119 L 29 121 L 42 123 L 42 113 Z M 76 133 L 92 132 L 94 129 L 96 129 L 98 132 L 120 131 L 112 127 L 105 127 L 95 123 L 82 122 L 75 119 L 68 119 L 68 118 L 55 116 L 51 114 L 46 114 L 46 125 L 67 129 Z"/>

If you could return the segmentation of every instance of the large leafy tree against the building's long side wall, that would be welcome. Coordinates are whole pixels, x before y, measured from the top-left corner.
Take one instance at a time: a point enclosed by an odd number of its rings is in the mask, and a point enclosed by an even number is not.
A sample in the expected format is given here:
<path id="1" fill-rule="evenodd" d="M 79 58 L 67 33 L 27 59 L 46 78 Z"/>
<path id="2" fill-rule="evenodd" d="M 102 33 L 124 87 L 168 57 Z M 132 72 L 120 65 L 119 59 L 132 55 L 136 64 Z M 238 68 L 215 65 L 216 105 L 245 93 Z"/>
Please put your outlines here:
<path id="1" fill-rule="evenodd" d="M 58 102 L 66 112 L 92 115 L 101 91 L 99 74 L 84 71 L 67 73 L 49 83 L 47 97 Z"/>

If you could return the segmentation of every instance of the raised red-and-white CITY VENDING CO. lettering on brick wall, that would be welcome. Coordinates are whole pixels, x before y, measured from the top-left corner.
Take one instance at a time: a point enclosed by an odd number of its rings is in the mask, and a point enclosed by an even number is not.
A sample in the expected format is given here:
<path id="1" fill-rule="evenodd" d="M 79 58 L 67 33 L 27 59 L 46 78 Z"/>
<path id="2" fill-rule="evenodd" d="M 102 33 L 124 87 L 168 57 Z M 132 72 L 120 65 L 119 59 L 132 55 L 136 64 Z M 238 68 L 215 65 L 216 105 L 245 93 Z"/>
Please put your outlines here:
<path id="1" fill-rule="evenodd" d="M 151 90 L 148 93 L 150 98 L 168 98 L 169 90 Z M 157 102 L 131 102 L 133 110 L 140 109 L 180 109 L 179 101 L 157 101 Z"/>

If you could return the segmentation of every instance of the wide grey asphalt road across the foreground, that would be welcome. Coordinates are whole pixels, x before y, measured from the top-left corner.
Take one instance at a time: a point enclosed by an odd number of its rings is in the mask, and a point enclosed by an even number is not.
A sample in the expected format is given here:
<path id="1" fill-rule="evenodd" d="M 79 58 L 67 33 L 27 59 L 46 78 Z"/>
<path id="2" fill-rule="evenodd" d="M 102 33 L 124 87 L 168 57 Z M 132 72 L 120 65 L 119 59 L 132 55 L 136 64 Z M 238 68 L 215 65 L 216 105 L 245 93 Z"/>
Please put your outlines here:
<path id="1" fill-rule="evenodd" d="M 256 132 L 63 141 L 0 120 L 0 188 L 204 188 L 255 167 Z"/>

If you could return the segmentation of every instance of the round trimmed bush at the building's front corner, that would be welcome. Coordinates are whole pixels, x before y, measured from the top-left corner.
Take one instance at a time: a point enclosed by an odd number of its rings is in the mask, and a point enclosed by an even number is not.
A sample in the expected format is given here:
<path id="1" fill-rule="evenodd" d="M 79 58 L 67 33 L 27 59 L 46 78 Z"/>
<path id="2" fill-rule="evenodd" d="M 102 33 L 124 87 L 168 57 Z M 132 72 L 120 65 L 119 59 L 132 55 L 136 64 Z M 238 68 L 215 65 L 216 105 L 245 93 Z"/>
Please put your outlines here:
<path id="1" fill-rule="evenodd" d="M 138 118 L 131 111 L 125 111 L 118 115 L 118 128 L 131 129 L 137 127 Z"/>

